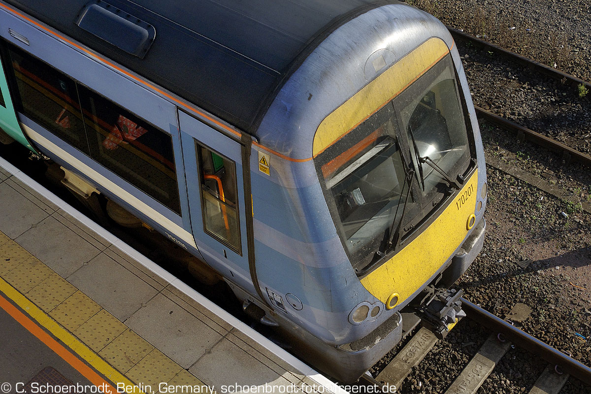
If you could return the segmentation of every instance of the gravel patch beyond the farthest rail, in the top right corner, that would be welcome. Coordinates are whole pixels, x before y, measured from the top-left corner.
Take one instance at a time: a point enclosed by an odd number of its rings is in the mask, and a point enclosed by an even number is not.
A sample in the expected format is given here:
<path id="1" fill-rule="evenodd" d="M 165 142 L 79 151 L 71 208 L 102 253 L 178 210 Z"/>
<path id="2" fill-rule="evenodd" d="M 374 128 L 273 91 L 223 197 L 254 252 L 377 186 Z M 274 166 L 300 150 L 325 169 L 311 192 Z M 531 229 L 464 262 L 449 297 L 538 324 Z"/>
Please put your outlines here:
<path id="1" fill-rule="evenodd" d="M 591 82 L 587 0 L 406 0 L 446 25 Z"/>

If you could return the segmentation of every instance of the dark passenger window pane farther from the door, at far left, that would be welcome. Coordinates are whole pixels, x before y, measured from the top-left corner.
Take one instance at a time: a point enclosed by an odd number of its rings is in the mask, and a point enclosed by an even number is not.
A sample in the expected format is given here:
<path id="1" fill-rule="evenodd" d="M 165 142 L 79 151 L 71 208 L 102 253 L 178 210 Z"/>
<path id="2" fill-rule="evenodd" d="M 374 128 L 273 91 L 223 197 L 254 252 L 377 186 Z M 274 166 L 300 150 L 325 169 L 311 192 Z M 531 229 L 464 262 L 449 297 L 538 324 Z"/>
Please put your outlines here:
<path id="1" fill-rule="evenodd" d="M 88 154 L 76 83 L 17 47 L 11 45 L 9 53 L 22 112 Z"/>

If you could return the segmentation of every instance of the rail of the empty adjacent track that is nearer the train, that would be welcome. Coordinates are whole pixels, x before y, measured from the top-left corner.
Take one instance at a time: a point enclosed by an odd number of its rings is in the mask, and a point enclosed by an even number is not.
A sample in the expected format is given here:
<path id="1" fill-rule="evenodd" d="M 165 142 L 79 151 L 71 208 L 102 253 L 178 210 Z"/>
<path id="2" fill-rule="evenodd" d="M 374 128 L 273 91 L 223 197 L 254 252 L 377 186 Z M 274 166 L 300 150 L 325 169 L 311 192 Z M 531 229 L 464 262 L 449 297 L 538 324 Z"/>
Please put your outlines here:
<path id="1" fill-rule="evenodd" d="M 548 138 L 543 134 L 521 126 L 513 121 L 509 121 L 502 116 L 496 115 L 495 113 L 487 111 L 478 106 L 474 106 L 474 109 L 476 110 L 476 115 L 479 118 L 485 118 L 487 121 L 496 123 L 508 131 L 515 131 L 517 133 L 517 138 L 521 141 L 525 141 L 527 139 L 528 141 L 544 146 L 551 151 L 561 153 L 567 162 L 573 160 L 591 166 L 591 156 L 584 154 L 583 152 L 570 148 L 570 146 L 564 145 L 555 139 Z"/>

